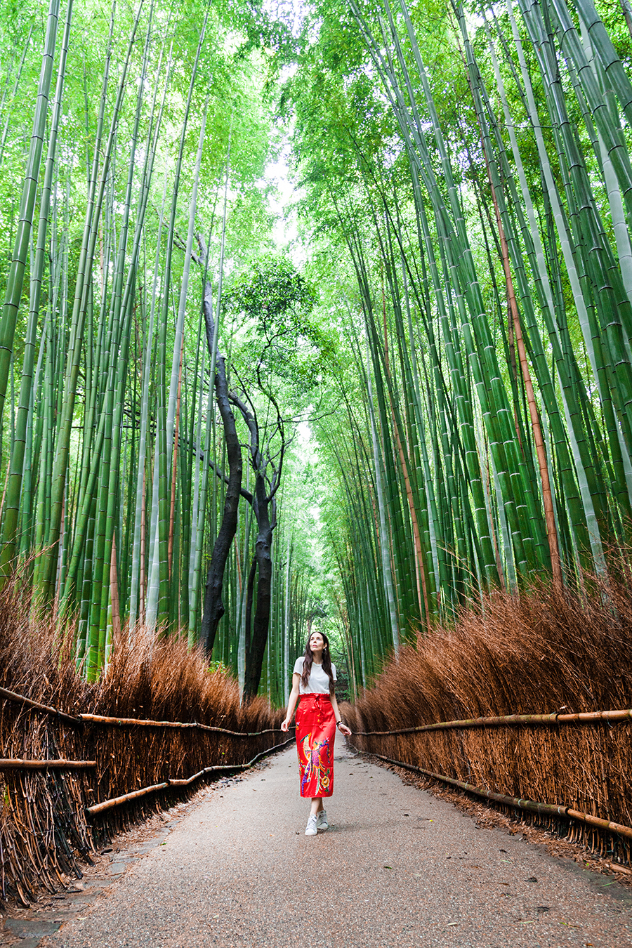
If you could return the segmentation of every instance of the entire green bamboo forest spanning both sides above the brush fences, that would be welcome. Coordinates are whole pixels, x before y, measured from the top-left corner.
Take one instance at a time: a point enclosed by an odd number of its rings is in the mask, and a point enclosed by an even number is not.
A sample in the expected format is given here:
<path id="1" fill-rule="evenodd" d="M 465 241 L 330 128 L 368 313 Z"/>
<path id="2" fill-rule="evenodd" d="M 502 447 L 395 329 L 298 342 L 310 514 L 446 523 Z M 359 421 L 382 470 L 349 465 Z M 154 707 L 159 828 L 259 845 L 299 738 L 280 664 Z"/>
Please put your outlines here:
<path id="1" fill-rule="evenodd" d="M 481 592 L 607 575 L 628 0 L 50 0 L 2 29 L 0 574 L 87 678 L 179 630 L 280 702 L 323 621 L 355 690 Z"/>

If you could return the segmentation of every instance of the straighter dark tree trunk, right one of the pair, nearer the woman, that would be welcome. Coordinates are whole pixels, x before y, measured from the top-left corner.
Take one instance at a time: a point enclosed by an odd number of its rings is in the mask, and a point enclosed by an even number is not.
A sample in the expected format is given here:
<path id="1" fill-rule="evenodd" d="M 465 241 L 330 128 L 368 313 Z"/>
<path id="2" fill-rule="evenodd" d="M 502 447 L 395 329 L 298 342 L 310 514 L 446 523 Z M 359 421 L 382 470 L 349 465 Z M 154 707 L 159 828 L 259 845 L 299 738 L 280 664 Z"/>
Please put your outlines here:
<path id="1" fill-rule="evenodd" d="M 245 655 L 244 699 L 246 700 L 255 697 L 262 680 L 263 655 L 268 640 L 270 606 L 272 604 L 272 531 L 274 530 L 274 523 L 270 522 L 270 501 L 266 497 L 265 482 L 261 474 L 257 475 L 256 499 L 257 524 L 259 527 L 255 543 L 258 571 L 257 607 L 252 624 L 250 643 L 249 647 L 246 648 Z M 247 628 L 249 628 L 249 623 Z"/>

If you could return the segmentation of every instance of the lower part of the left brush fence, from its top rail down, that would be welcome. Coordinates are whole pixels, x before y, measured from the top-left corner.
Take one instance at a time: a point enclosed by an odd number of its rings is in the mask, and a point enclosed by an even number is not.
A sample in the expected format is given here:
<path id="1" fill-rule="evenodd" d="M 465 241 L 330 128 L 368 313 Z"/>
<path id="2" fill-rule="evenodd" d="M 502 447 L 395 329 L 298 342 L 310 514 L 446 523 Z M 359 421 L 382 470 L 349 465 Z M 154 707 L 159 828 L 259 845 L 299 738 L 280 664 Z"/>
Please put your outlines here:
<path id="1" fill-rule="evenodd" d="M 3 746 L 39 754 L 0 759 L 2 898 L 24 903 L 42 885 L 55 891 L 64 876 L 80 877 L 79 861 L 90 862 L 113 831 L 172 803 L 201 777 L 244 770 L 288 742 L 280 728 L 72 718 L 5 688 L 0 702 Z M 79 759 L 86 753 L 94 759 Z"/>

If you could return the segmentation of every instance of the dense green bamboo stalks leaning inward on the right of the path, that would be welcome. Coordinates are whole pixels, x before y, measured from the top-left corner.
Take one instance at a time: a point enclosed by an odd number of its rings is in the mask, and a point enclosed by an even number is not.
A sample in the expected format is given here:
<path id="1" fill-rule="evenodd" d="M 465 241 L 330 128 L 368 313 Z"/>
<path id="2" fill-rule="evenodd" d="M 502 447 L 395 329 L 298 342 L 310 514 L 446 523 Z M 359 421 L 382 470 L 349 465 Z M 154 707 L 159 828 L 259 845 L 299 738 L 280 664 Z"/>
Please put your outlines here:
<path id="1" fill-rule="evenodd" d="M 350 0 L 293 82 L 307 213 L 355 277 L 320 441 L 357 684 L 479 591 L 629 544 L 632 18 L 601 13 Z"/>

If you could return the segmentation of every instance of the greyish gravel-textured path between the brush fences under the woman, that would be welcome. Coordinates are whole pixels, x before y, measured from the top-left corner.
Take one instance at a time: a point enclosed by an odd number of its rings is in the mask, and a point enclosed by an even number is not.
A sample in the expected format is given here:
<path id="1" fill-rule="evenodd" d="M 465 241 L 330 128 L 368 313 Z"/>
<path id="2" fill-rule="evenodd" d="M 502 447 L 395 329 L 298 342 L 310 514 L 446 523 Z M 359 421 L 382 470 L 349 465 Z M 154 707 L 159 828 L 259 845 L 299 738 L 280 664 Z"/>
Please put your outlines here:
<path id="1" fill-rule="evenodd" d="M 256 795 L 254 795 L 256 794 Z M 632 896 L 388 770 L 335 754 L 304 835 L 296 749 L 187 810 L 54 948 L 630 948 Z"/>

